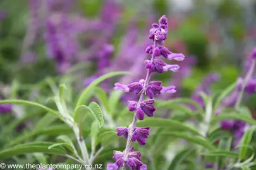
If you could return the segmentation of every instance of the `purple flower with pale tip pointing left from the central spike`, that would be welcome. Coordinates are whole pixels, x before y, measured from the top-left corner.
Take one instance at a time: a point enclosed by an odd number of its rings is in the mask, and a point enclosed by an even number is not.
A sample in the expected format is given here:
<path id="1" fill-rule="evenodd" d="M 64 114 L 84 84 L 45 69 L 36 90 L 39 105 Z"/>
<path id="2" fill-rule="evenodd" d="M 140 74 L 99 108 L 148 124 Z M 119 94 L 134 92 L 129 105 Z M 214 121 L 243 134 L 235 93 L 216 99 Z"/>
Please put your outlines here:
<path id="1" fill-rule="evenodd" d="M 114 89 L 123 90 L 125 92 L 133 92 L 134 91 L 135 94 L 138 94 L 138 93 L 140 93 L 140 91 L 143 88 L 143 83 L 144 83 L 143 80 L 140 80 L 140 82 L 133 82 L 133 83 L 128 84 L 128 85 L 124 85 L 124 84 L 121 84 L 119 82 L 116 82 L 114 84 L 114 86 L 116 86 L 116 87 L 114 87 Z"/>

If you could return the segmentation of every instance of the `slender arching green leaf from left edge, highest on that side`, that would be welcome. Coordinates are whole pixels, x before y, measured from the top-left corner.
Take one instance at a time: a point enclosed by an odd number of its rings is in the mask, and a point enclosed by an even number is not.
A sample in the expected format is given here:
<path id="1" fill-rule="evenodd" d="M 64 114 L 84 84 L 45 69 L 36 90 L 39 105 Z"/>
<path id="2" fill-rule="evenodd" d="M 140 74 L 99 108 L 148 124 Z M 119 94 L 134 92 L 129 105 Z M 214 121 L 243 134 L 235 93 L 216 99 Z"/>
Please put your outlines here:
<path id="1" fill-rule="evenodd" d="M 4 99 L 0 100 L 0 104 L 6 104 L 6 103 L 12 103 L 12 104 L 20 104 L 20 105 L 30 105 L 30 106 L 37 106 L 39 108 L 42 108 L 43 110 L 49 111 L 50 113 L 53 113 L 54 115 L 58 116 L 62 119 L 61 115 L 57 111 L 52 110 L 51 108 L 47 108 L 44 105 L 40 105 L 39 103 L 35 103 L 32 101 L 26 101 L 22 99 Z"/>

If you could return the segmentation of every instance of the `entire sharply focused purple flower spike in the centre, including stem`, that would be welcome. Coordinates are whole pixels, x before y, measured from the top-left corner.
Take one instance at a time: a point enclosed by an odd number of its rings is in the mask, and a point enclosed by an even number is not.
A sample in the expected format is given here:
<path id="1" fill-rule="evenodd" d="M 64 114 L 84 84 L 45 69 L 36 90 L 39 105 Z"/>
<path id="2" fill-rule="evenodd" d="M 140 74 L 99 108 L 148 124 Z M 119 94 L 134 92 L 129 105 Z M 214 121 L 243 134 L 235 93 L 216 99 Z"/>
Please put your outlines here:
<path id="1" fill-rule="evenodd" d="M 175 86 L 164 87 L 161 81 L 150 81 L 152 72 L 162 73 L 164 71 L 178 71 L 179 65 L 169 65 L 160 60 L 162 55 L 169 60 L 182 61 L 185 59 L 183 54 L 174 54 L 164 47 L 164 40 L 166 40 L 166 34 L 168 33 L 168 20 L 166 16 L 162 16 L 159 19 L 159 24 L 154 23 L 152 29 L 150 29 L 149 39 L 153 41 L 153 45 L 149 45 L 145 49 L 147 54 L 152 57 L 150 60 L 145 60 L 145 68 L 147 69 L 147 76 L 145 79 L 141 79 L 138 82 L 132 82 L 130 84 L 121 84 L 117 82 L 114 87 L 116 90 L 123 90 L 125 92 L 135 93 L 139 96 L 138 102 L 128 101 L 129 111 L 135 111 L 133 116 L 133 122 L 129 127 L 118 127 L 117 135 L 123 136 L 127 139 L 126 149 L 123 152 L 114 151 L 114 164 L 108 164 L 108 170 L 118 170 L 121 167 L 126 169 L 143 170 L 147 169 L 147 166 L 141 161 L 141 153 L 134 151 L 134 147 L 130 147 L 131 141 L 137 141 L 140 145 L 146 144 L 146 139 L 149 137 L 150 127 L 136 127 L 137 118 L 143 120 L 144 116 L 154 116 L 154 96 L 162 93 L 175 93 Z M 144 96 L 150 99 L 144 100 Z"/>

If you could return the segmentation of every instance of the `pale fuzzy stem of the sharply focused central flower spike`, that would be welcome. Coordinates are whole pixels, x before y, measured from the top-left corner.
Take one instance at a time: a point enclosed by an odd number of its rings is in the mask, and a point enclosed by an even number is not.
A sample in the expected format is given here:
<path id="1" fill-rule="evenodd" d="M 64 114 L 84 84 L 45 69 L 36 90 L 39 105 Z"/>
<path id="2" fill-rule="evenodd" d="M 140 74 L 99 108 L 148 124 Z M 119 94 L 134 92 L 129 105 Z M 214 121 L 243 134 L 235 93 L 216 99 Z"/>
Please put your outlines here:
<path id="1" fill-rule="evenodd" d="M 155 53 L 155 47 L 157 47 L 157 42 L 154 41 L 154 48 L 152 50 L 152 57 L 151 57 L 151 61 L 155 59 L 155 56 L 154 56 L 154 53 Z M 149 80 L 150 80 L 150 76 L 151 76 L 151 71 L 150 69 L 147 70 L 147 76 L 146 76 L 146 79 L 145 79 L 145 82 L 143 84 L 143 89 L 140 93 L 140 98 L 138 99 L 138 106 L 137 107 L 140 107 L 140 103 L 142 103 L 143 101 L 143 98 L 145 96 L 145 88 L 147 86 L 147 84 L 149 83 Z M 137 115 L 136 115 L 136 111 L 133 115 L 133 122 L 131 123 L 130 125 L 130 130 L 128 132 L 128 138 L 127 138 L 127 142 L 126 142 L 126 147 L 125 147 L 125 154 L 124 154 L 124 159 L 126 160 L 127 156 L 128 156 L 128 152 L 129 152 L 129 149 L 130 149 L 130 145 L 131 145 L 131 136 L 133 134 L 133 130 L 135 128 L 135 125 L 136 125 L 136 122 L 137 122 Z M 126 162 L 123 163 L 123 170 L 126 169 Z"/>

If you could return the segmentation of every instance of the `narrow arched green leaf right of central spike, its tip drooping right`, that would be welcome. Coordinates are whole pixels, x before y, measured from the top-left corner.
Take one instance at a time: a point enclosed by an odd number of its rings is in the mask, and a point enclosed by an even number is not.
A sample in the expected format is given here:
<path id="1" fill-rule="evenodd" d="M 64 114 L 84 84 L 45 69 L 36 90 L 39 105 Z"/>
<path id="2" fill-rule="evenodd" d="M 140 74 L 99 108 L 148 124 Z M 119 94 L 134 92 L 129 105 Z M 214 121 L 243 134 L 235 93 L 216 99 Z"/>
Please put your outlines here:
<path id="1" fill-rule="evenodd" d="M 192 99 L 189 99 L 189 98 L 175 98 L 175 99 L 170 99 L 168 101 L 162 101 L 162 100 L 157 100 L 155 101 L 156 103 L 159 103 L 158 106 L 168 106 L 168 105 L 171 105 L 173 103 L 178 103 L 178 104 L 181 104 L 181 103 L 188 103 L 188 104 L 191 104 L 193 106 L 195 106 L 195 108 L 197 108 L 197 110 L 199 111 L 199 113 L 201 115 L 204 115 L 204 110 L 201 108 L 200 105 L 198 105 L 197 102 L 193 101 Z"/>

